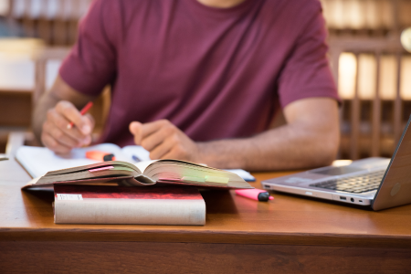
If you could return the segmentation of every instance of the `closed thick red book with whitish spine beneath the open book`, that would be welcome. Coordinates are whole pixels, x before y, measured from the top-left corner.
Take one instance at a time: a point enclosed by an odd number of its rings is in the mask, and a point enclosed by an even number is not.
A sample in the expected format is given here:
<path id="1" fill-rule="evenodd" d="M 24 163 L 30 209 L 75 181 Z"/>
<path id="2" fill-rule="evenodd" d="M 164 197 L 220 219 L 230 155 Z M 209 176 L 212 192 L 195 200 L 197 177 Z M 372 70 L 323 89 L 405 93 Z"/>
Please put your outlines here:
<path id="1" fill-rule="evenodd" d="M 56 224 L 205 225 L 194 187 L 54 184 Z"/>

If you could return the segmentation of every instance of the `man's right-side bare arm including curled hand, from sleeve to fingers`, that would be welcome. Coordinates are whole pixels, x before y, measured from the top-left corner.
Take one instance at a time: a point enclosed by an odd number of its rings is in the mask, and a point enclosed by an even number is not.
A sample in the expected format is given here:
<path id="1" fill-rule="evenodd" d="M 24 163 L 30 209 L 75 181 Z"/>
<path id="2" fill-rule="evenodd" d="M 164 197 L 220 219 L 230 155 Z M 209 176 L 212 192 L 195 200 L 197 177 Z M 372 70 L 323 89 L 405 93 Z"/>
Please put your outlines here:
<path id="1" fill-rule="evenodd" d="M 297 100 L 284 109 L 287 124 L 240 139 L 194 142 L 170 121 L 133 121 L 134 142 L 152 159 L 181 159 L 250 171 L 311 168 L 332 163 L 339 146 L 337 102 Z"/>

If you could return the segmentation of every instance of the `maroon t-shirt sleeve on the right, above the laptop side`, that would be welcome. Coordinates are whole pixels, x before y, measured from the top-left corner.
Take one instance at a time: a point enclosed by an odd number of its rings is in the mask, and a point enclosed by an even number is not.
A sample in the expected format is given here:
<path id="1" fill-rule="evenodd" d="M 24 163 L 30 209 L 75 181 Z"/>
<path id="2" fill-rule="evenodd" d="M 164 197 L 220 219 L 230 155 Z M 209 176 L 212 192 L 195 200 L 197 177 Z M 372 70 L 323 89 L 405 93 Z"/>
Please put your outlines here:
<path id="1" fill-rule="evenodd" d="M 295 100 L 312 97 L 339 100 L 327 58 L 327 30 L 320 4 L 315 5 L 311 18 L 304 23 L 279 76 L 281 107 Z"/>

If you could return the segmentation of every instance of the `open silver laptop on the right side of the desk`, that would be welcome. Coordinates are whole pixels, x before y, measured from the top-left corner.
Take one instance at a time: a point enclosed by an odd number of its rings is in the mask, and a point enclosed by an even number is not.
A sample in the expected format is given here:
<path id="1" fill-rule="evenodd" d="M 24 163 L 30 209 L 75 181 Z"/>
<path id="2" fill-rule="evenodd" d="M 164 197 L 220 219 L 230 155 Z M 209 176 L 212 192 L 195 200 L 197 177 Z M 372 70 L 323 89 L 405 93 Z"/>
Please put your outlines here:
<path id="1" fill-rule="evenodd" d="M 381 210 L 411 203 L 411 116 L 388 158 L 366 158 L 262 181 L 264 189 L 371 206 Z"/>

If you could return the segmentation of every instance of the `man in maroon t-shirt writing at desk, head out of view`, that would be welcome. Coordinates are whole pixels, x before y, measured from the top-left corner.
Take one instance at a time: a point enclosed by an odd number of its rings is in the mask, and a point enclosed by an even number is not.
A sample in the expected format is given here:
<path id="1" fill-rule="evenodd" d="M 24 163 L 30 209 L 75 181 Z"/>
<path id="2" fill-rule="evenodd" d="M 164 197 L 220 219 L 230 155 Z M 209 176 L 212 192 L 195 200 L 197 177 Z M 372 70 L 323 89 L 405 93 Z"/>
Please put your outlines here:
<path id="1" fill-rule="evenodd" d="M 329 164 L 339 124 L 325 37 L 317 0 L 98 0 L 35 132 L 56 153 L 90 144 L 78 109 L 111 83 L 101 142 L 219 168 Z M 287 124 L 269 129 L 279 107 Z"/>

